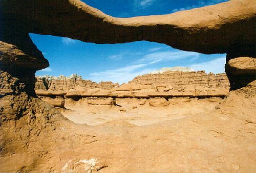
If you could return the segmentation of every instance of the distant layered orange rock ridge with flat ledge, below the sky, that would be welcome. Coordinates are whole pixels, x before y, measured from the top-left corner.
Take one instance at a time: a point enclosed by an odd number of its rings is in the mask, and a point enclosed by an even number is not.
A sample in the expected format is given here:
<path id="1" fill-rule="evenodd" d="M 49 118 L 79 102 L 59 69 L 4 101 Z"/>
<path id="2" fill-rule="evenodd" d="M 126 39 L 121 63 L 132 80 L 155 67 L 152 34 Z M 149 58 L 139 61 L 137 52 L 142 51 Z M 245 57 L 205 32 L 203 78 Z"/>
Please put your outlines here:
<path id="1" fill-rule="evenodd" d="M 116 98 L 152 100 L 157 97 L 166 102 L 173 97 L 224 98 L 229 88 L 225 73 L 215 75 L 204 71 L 147 74 L 121 86 L 112 82 L 97 84 L 77 77 L 37 77 L 35 83 L 36 94 L 42 100 L 62 108 L 67 98 L 74 101 L 88 98 L 88 104 L 92 105 L 116 105 Z"/>

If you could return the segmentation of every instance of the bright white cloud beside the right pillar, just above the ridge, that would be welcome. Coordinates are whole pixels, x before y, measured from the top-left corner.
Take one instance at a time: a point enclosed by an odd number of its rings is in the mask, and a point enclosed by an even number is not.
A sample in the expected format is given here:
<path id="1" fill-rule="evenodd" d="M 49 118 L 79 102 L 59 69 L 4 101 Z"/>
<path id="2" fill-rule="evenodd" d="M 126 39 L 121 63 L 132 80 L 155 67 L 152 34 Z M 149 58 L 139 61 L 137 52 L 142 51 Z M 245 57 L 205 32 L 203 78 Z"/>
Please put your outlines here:
<path id="1" fill-rule="evenodd" d="M 223 73 L 225 72 L 225 63 L 226 58 L 217 58 L 215 60 L 211 60 L 208 62 L 201 62 L 197 64 L 192 64 L 189 67 L 193 68 L 194 70 L 205 70 L 206 73 Z"/>

